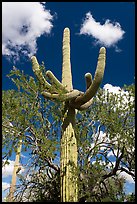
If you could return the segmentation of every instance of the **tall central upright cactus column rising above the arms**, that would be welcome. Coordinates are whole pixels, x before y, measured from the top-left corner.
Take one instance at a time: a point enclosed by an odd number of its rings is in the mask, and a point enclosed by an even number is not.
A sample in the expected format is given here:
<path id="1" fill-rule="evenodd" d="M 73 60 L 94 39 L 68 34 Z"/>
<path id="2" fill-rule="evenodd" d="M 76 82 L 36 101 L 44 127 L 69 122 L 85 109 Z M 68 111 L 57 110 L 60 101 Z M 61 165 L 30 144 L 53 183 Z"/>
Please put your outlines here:
<path id="1" fill-rule="evenodd" d="M 71 74 L 71 63 L 70 63 L 70 30 L 69 28 L 64 29 L 63 33 L 63 62 L 62 62 L 62 84 L 68 91 L 73 89 L 72 86 L 72 74 Z"/>

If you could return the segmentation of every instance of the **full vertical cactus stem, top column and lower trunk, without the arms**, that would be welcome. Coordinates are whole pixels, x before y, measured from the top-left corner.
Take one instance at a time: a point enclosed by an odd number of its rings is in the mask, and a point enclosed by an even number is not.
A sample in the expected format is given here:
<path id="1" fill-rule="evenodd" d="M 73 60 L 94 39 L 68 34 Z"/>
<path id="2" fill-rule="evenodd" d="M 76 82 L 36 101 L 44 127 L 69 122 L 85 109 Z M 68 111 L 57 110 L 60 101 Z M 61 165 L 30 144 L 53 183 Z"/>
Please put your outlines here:
<path id="1" fill-rule="evenodd" d="M 70 63 L 70 31 L 65 28 L 63 35 L 62 84 L 68 91 L 73 90 Z M 66 102 L 67 103 L 67 102 Z M 77 202 L 77 140 L 75 137 L 75 109 L 67 105 L 62 125 L 61 138 L 61 202 Z"/>

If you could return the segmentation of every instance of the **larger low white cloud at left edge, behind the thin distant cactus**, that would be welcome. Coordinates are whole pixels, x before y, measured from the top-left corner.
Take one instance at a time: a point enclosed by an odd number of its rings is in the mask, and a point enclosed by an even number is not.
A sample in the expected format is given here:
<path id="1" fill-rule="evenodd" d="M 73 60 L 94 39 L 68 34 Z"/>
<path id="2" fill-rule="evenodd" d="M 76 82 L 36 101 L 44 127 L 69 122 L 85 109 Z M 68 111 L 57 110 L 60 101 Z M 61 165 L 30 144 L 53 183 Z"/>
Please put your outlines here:
<path id="1" fill-rule="evenodd" d="M 14 169 L 14 163 L 15 161 L 8 160 L 9 164 L 6 164 L 4 167 L 2 167 L 2 177 L 6 178 L 8 176 L 12 176 L 13 169 Z M 21 170 L 19 173 L 22 173 L 25 169 L 20 165 Z"/>

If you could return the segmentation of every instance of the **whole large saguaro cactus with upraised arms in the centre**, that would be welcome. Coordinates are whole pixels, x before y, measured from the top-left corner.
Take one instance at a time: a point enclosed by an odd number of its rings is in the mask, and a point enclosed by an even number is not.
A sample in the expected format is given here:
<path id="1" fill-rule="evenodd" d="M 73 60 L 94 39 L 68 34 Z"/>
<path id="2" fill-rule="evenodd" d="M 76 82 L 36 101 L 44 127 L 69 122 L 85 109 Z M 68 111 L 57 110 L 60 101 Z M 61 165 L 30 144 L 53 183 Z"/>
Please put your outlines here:
<path id="1" fill-rule="evenodd" d="M 61 178 L 61 201 L 78 201 L 77 184 L 77 139 L 75 136 L 75 115 L 77 110 L 85 110 L 92 104 L 93 96 L 96 94 L 102 81 L 105 69 L 106 50 L 102 47 L 99 51 L 98 63 L 94 79 L 90 73 L 85 74 L 86 92 L 73 89 L 71 63 L 70 63 L 70 30 L 64 29 L 63 34 L 63 63 L 62 63 L 62 83 L 51 71 L 46 72 L 46 76 L 51 84 L 46 81 L 35 56 L 31 58 L 32 69 L 37 79 L 46 89 L 42 95 L 50 100 L 58 99 L 64 104 L 64 117 L 61 136 L 61 158 L 60 158 L 60 178 Z"/>

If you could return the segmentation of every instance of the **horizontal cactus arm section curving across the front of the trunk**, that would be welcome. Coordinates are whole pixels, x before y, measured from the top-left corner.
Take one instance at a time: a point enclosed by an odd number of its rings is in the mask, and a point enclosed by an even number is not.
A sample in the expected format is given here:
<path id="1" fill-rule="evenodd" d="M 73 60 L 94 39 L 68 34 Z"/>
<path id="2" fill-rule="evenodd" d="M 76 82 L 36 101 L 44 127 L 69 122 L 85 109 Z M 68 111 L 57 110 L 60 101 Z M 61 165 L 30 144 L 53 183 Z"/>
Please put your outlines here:
<path id="1" fill-rule="evenodd" d="M 58 99 L 60 101 L 68 101 L 76 98 L 78 95 L 80 95 L 80 91 L 73 89 L 73 91 L 66 93 L 66 94 L 51 94 L 49 92 L 43 91 L 41 94 L 45 98 L 50 98 L 50 99 Z"/>

